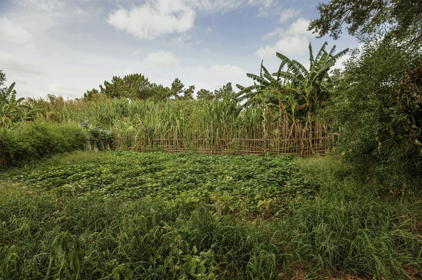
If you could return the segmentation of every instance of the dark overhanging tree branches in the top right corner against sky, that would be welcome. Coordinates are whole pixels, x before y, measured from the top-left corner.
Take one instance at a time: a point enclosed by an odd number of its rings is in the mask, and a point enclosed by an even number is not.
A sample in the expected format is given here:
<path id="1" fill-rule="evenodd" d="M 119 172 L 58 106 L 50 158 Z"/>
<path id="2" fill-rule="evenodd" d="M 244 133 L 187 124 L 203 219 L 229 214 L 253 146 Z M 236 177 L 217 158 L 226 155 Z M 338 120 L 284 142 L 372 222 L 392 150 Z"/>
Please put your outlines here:
<path id="1" fill-rule="evenodd" d="M 311 20 L 308 30 L 318 33 L 318 38 L 329 34 L 337 40 L 346 25 L 352 36 L 382 33 L 386 38 L 400 37 L 409 29 L 414 32 L 414 42 L 422 40 L 418 17 L 422 14 L 422 1 L 415 0 L 330 0 L 317 7 L 319 19 Z"/>

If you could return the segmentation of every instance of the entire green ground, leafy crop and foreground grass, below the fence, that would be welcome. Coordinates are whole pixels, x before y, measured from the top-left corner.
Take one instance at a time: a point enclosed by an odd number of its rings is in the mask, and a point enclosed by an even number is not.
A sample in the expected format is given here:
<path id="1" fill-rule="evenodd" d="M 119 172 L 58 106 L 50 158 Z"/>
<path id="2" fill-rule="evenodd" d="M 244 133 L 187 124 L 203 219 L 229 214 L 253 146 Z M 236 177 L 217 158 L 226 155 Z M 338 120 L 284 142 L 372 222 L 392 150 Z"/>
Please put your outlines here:
<path id="1" fill-rule="evenodd" d="M 1 175 L 1 279 L 422 275 L 420 196 L 334 159 L 77 152 Z"/>

